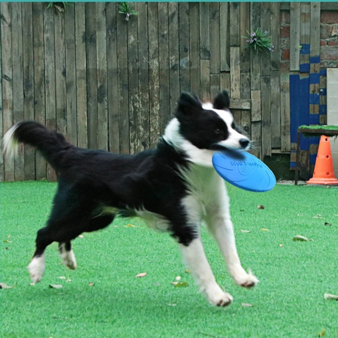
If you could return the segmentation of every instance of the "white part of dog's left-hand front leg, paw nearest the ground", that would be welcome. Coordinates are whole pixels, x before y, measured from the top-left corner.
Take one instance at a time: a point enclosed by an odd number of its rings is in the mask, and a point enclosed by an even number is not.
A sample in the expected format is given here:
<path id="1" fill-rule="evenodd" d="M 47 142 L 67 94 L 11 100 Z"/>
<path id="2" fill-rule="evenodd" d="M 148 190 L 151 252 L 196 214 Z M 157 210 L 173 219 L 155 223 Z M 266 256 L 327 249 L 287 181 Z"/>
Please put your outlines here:
<path id="1" fill-rule="evenodd" d="M 192 240 L 189 245 L 179 244 L 185 264 L 191 271 L 195 282 L 204 291 L 211 304 L 217 306 L 229 305 L 233 297 L 224 292 L 216 283 L 210 265 L 204 254 L 200 237 Z"/>

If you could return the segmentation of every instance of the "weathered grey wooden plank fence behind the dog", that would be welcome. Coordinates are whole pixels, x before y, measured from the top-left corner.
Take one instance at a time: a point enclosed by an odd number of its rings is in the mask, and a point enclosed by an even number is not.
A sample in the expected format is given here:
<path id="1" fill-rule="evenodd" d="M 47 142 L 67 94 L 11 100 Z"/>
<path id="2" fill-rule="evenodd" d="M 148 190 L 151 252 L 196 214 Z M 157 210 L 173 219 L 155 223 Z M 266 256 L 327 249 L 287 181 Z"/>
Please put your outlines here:
<path id="1" fill-rule="evenodd" d="M 282 3 L 131 2 L 138 15 L 128 21 L 118 4 L 76 2 L 59 11 L 41 2 L 1 3 L 1 137 L 13 123 L 35 119 L 80 147 L 135 153 L 156 145 L 180 92 L 209 101 L 227 89 L 255 155 L 291 150 Z M 246 47 L 243 37 L 258 27 L 269 31 L 274 52 Z M 2 155 L 0 174 L 55 179 L 29 147 L 13 160 Z"/>

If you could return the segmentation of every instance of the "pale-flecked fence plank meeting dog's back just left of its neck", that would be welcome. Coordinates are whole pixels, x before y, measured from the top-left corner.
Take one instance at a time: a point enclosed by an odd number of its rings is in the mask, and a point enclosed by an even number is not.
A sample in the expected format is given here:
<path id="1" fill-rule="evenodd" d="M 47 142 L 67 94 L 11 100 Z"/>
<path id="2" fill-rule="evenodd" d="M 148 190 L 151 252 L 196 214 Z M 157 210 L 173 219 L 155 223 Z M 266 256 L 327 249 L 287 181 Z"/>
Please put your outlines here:
<path id="1" fill-rule="evenodd" d="M 158 4 L 148 2 L 150 148 L 158 143 L 161 131 L 158 15 Z"/>

